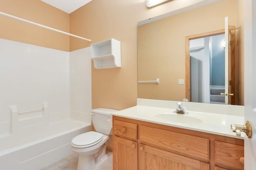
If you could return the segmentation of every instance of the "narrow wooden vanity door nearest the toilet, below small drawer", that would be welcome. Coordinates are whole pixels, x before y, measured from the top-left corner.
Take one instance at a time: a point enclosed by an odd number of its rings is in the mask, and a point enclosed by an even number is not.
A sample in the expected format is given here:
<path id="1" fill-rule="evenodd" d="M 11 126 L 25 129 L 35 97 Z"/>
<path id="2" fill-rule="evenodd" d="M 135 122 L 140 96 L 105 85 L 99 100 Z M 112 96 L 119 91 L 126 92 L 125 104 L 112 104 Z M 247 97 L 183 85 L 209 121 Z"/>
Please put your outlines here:
<path id="1" fill-rule="evenodd" d="M 138 170 L 138 143 L 114 136 L 114 170 Z"/>

